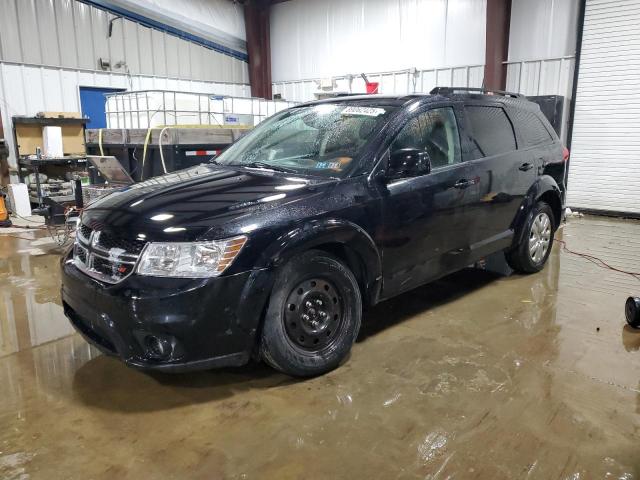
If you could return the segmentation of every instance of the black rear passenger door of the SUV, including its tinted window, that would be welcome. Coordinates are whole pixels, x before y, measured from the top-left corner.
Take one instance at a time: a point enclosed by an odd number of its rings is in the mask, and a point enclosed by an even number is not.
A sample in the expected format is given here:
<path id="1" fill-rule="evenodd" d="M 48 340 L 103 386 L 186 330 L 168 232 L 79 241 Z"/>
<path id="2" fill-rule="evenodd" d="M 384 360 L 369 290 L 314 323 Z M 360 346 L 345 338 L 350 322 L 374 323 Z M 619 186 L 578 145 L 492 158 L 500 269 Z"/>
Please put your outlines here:
<path id="1" fill-rule="evenodd" d="M 471 248 L 476 258 L 511 244 L 512 224 L 536 179 L 536 159 L 518 150 L 513 123 L 501 103 L 470 103 L 465 117 L 473 145 L 480 199 Z"/>

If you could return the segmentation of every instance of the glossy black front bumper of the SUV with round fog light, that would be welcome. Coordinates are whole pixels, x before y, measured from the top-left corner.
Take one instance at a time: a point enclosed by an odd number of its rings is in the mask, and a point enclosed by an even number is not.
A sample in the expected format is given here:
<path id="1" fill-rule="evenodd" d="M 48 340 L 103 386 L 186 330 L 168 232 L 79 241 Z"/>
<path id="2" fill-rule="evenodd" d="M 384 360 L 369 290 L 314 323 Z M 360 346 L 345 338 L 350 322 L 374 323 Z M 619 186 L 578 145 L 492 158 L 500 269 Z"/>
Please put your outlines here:
<path id="1" fill-rule="evenodd" d="M 75 329 L 102 352 L 142 369 L 247 363 L 270 290 L 267 270 L 208 279 L 131 275 L 110 285 L 82 273 L 69 255 L 61 266 L 62 302 Z"/>

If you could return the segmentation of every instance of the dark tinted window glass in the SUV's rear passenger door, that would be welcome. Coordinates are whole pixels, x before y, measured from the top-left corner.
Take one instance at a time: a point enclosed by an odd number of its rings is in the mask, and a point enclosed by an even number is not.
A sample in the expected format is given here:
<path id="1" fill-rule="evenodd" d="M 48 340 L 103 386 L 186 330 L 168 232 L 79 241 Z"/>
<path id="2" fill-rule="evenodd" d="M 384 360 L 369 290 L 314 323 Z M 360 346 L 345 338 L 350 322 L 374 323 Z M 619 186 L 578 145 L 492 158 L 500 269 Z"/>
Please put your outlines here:
<path id="1" fill-rule="evenodd" d="M 516 149 L 513 126 L 502 108 L 467 105 L 465 110 L 472 138 L 482 156 L 491 157 Z"/>

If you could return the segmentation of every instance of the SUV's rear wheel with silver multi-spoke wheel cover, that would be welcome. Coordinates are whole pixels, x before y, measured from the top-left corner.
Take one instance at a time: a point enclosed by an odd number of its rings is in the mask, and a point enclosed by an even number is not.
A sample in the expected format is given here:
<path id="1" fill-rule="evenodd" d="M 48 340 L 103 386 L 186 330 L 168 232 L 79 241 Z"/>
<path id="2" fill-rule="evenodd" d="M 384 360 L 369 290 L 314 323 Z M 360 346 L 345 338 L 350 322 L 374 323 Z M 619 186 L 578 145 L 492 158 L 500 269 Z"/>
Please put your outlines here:
<path id="1" fill-rule="evenodd" d="M 520 273 L 542 270 L 551 253 L 555 231 L 553 210 L 548 204 L 538 202 L 527 216 L 521 242 L 505 254 L 509 266 Z"/>

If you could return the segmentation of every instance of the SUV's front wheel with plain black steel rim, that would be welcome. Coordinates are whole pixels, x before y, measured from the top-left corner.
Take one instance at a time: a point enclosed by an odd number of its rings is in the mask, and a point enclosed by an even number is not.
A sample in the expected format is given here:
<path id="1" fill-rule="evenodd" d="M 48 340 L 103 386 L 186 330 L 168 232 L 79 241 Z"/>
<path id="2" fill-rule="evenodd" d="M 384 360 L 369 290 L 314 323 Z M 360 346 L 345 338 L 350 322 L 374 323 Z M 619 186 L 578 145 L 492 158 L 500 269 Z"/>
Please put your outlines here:
<path id="1" fill-rule="evenodd" d="M 347 357 L 361 319 L 360 288 L 351 270 L 329 253 L 309 250 L 277 273 L 260 355 L 288 375 L 321 375 Z"/>

